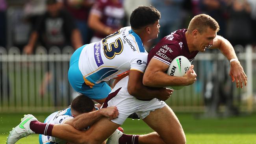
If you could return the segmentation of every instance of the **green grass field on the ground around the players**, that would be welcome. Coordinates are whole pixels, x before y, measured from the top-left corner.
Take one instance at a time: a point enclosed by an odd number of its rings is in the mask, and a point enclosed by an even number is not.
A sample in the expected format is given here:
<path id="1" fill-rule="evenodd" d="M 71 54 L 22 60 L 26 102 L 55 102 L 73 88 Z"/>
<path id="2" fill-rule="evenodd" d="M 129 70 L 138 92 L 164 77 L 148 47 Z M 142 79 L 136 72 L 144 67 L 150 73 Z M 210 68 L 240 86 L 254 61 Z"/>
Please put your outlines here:
<path id="1" fill-rule="evenodd" d="M 49 113 L 33 113 L 43 121 Z M 187 144 L 256 144 L 256 114 L 223 118 L 197 119 L 192 113 L 177 113 L 186 134 Z M 8 132 L 20 123 L 21 113 L 0 113 L 0 144 Z M 122 126 L 128 134 L 145 134 L 152 131 L 142 120 L 128 119 Z M 23 138 L 17 144 L 37 144 L 38 135 Z"/>

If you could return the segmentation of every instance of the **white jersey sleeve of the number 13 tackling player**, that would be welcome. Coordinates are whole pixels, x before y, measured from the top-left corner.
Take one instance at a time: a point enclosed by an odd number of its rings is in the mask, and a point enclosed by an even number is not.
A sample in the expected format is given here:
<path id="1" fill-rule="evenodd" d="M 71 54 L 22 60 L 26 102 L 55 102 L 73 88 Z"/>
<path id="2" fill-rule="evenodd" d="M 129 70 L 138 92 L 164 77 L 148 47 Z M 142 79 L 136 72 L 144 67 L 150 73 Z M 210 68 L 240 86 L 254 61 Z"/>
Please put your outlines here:
<path id="1" fill-rule="evenodd" d="M 130 70 L 138 70 L 138 71 L 144 73 L 146 66 L 147 66 L 147 59 L 148 59 L 147 53 L 135 54 L 134 57 L 130 61 L 130 64 L 131 64 Z"/>

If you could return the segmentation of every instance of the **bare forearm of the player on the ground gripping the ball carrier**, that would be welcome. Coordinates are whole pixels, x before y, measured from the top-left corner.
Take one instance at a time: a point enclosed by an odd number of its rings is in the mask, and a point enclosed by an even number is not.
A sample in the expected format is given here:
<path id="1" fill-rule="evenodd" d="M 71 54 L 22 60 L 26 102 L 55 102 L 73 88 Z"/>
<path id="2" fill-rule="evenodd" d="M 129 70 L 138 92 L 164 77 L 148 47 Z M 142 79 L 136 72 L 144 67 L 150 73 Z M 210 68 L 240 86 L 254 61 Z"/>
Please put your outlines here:
<path id="1" fill-rule="evenodd" d="M 98 121 L 102 116 L 106 116 L 111 120 L 117 118 L 118 114 L 117 107 L 107 107 L 99 109 L 98 111 L 80 114 L 72 120 L 65 122 L 65 124 L 69 124 L 78 130 L 83 130 L 88 126 L 92 126 L 93 123 Z"/>

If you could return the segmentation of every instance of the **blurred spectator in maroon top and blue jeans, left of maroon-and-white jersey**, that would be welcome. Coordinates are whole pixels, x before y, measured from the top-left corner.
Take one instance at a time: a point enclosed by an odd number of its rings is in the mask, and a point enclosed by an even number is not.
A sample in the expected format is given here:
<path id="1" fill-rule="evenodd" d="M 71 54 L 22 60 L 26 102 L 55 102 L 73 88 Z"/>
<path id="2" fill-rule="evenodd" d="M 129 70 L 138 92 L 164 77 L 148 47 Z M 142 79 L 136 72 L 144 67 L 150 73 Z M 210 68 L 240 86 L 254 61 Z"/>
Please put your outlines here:
<path id="1" fill-rule="evenodd" d="M 95 0 L 64 0 L 63 4 L 74 17 L 76 26 L 80 30 L 83 44 L 88 44 L 93 36 L 93 30 L 88 26 L 88 15 Z"/>

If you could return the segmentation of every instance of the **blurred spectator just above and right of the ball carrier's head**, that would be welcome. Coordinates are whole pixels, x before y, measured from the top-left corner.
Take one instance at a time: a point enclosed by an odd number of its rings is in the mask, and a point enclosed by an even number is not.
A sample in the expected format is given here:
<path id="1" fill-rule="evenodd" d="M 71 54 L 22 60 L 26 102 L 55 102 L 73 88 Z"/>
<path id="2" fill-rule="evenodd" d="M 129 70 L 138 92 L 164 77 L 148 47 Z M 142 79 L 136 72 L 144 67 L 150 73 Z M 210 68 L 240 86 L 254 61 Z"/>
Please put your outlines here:
<path id="1" fill-rule="evenodd" d="M 226 30 L 226 2 L 224 0 L 200 0 L 199 3 L 202 13 L 213 17 L 220 26 L 218 35 L 225 37 Z"/>

